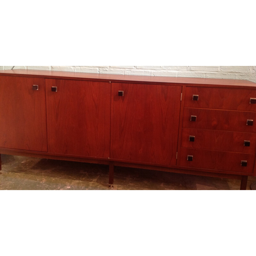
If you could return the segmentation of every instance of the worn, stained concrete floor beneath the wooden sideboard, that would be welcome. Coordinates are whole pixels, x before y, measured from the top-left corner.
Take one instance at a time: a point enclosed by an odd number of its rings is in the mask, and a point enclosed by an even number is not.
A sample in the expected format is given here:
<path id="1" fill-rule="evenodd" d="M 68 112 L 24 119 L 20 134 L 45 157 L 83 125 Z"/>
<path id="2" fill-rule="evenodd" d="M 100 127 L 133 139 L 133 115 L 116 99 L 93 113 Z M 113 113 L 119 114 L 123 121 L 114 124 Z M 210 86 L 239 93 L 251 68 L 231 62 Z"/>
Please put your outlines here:
<path id="1" fill-rule="evenodd" d="M 2 156 L 0 190 L 108 190 L 108 166 Z M 256 177 L 249 177 L 247 190 Z M 240 180 L 115 167 L 117 190 L 236 190 Z"/>

